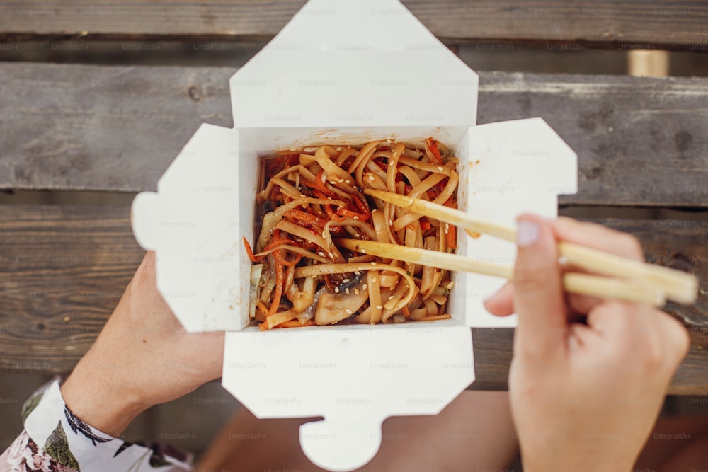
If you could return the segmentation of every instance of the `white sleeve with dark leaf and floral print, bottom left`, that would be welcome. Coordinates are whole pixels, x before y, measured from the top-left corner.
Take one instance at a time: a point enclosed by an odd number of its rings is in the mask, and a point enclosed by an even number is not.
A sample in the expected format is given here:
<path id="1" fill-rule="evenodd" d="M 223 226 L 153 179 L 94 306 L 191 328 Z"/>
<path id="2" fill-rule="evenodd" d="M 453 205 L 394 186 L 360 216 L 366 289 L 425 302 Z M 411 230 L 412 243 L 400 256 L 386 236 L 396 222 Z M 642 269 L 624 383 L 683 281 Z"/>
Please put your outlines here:
<path id="1" fill-rule="evenodd" d="M 76 418 L 55 379 L 22 407 L 25 430 L 0 455 L 4 472 L 181 472 L 190 457 L 111 437 Z"/>

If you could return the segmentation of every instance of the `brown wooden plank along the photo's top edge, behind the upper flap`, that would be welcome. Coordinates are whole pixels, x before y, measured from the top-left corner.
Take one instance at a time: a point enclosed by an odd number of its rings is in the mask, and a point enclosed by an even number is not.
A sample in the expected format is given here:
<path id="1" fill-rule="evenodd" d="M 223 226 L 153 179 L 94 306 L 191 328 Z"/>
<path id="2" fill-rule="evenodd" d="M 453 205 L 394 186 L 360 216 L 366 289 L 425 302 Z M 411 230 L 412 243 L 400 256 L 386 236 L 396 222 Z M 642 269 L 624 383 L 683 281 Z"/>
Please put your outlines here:
<path id="1" fill-rule="evenodd" d="M 268 40 L 304 0 L 23 0 L 0 4 L 0 38 Z M 708 44 L 708 5 L 690 1 L 404 0 L 447 42 L 580 42 L 617 47 Z M 389 9 L 371 9 L 389 15 Z M 324 9 L 322 15 L 332 15 Z"/>

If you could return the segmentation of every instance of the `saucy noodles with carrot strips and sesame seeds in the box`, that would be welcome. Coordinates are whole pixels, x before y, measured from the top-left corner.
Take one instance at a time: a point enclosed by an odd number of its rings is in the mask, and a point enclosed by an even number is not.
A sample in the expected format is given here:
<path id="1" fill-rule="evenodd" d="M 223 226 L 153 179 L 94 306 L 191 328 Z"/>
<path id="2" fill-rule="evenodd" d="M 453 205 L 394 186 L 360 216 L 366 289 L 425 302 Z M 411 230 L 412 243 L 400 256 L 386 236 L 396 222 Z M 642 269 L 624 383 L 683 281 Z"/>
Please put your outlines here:
<path id="1" fill-rule="evenodd" d="M 402 323 L 450 318 L 450 273 L 377 258 L 342 238 L 433 251 L 456 248 L 455 226 L 364 194 L 396 192 L 457 208 L 457 158 L 423 146 L 373 141 L 279 151 L 261 161 L 251 316 L 262 330 L 334 323 Z"/>

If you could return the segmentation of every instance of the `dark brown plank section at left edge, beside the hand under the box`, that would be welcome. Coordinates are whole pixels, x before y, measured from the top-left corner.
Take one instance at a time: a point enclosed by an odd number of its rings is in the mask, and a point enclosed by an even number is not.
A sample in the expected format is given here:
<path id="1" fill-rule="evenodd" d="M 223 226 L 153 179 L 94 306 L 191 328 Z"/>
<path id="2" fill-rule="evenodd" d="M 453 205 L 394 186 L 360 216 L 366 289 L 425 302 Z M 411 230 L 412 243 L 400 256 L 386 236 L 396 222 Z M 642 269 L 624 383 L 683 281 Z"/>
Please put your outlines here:
<path id="1" fill-rule="evenodd" d="M 129 217 L 0 207 L 0 369 L 68 372 L 91 347 L 142 260 Z"/>

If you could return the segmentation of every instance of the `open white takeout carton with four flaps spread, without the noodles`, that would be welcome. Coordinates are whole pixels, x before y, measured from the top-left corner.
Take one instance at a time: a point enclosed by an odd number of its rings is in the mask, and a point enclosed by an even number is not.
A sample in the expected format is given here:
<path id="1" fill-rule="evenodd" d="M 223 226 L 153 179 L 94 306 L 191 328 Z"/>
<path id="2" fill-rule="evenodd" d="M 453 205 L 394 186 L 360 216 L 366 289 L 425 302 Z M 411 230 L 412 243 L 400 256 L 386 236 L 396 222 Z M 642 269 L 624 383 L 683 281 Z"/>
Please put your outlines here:
<path id="1" fill-rule="evenodd" d="M 258 418 L 322 416 L 305 454 L 333 471 L 363 466 L 392 415 L 435 414 L 474 381 L 470 326 L 515 326 L 484 310 L 503 280 L 458 273 L 452 319 L 377 326 L 249 326 L 259 156 L 316 144 L 439 139 L 460 159 L 458 204 L 511 225 L 555 217 L 576 192 L 576 155 L 541 119 L 475 126 L 477 75 L 396 0 L 310 0 L 231 79 L 234 129 L 202 125 L 132 206 L 157 252 L 157 285 L 190 331 L 225 330 L 222 383 Z M 513 263 L 515 247 L 458 233 L 457 253 Z"/>

